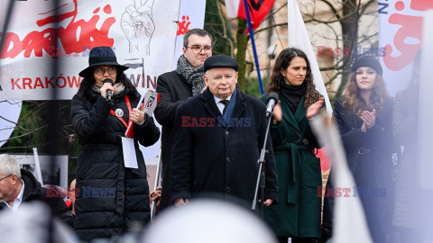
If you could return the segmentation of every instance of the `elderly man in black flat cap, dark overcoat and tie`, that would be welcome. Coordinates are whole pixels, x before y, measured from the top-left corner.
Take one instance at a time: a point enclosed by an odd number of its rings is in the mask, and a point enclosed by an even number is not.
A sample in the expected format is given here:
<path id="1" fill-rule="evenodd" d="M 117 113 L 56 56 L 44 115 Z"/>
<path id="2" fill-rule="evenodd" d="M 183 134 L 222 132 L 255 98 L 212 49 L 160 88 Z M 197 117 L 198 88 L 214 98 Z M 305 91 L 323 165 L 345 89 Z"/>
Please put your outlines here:
<path id="1" fill-rule="evenodd" d="M 253 201 L 265 105 L 236 89 L 237 62 L 217 55 L 204 63 L 207 89 L 181 104 L 171 155 L 171 201 L 179 206 L 203 196 L 249 205 Z M 264 204 L 278 199 L 277 175 L 268 139 Z"/>

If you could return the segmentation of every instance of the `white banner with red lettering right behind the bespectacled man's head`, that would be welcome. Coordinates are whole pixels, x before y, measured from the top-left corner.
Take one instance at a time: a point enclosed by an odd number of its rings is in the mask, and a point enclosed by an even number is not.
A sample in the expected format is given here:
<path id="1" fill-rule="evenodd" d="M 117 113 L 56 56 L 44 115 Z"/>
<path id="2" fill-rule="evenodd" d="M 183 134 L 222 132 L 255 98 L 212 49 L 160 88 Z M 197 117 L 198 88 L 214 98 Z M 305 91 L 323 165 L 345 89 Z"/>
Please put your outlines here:
<path id="1" fill-rule="evenodd" d="M 195 28 L 203 29 L 205 26 L 206 1 L 181 0 L 176 37 L 176 50 L 174 52 L 173 69 L 178 66 L 178 58 L 183 54 L 183 35 Z"/>

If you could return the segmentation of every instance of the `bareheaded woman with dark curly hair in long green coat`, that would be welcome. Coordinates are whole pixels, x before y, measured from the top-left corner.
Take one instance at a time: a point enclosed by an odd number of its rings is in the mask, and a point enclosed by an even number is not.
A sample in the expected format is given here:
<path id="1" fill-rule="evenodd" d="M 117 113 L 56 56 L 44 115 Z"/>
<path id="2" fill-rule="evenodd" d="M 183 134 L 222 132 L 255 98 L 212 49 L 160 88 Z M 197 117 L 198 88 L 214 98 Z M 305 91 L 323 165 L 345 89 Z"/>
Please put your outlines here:
<path id="1" fill-rule="evenodd" d="M 324 99 L 316 91 L 307 55 L 284 49 L 272 70 L 269 93 L 279 94 L 271 137 L 278 173 L 279 203 L 264 209 L 264 220 L 280 242 L 310 242 L 320 237 L 322 184 L 318 142 L 309 127 Z M 266 96 L 263 95 L 263 101 Z"/>

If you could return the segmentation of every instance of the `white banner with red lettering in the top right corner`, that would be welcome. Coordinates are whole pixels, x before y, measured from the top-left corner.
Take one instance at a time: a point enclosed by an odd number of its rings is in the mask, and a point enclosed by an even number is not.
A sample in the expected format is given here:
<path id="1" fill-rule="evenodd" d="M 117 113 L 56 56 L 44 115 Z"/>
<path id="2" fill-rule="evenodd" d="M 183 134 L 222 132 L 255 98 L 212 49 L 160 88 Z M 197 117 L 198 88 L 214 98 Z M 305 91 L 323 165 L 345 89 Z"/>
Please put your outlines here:
<path id="1" fill-rule="evenodd" d="M 431 0 L 379 0 L 379 46 L 383 78 L 391 95 L 405 89 L 410 81 L 412 63 L 422 45 L 425 11 Z"/>

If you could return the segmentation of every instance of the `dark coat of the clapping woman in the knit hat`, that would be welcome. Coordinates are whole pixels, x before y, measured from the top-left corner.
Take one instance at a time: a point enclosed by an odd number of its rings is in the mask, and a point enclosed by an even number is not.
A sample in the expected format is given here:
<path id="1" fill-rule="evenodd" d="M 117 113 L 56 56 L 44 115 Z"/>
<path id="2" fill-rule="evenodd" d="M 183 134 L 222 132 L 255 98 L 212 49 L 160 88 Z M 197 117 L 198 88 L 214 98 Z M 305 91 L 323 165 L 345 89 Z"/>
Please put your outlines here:
<path id="1" fill-rule="evenodd" d="M 351 188 L 352 195 L 361 197 L 362 201 L 374 200 L 374 212 L 365 211 L 367 220 L 369 217 L 379 219 L 383 230 L 391 226 L 393 210 L 394 180 L 393 159 L 399 153 L 399 147 L 392 137 L 392 109 L 393 101 L 388 99 L 383 104 L 382 111 L 376 115 L 375 124 L 366 132 L 361 130 L 363 121 L 358 120 L 355 112 L 351 112 L 343 106 L 343 98 L 334 104 L 333 119 L 337 122 L 346 159 L 352 175 L 355 177 L 357 188 Z M 366 168 L 373 175 L 365 175 L 364 165 L 369 163 L 371 168 Z M 332 169 L 329 175 L 327 187 L 332 187 Z M 369 184 L 367 187 L 360 184 Z M 363 196 L 368 193 L 371 197 Z M 364 203 L 363 203 L 364 204 Z M 333 198 L 325 198 L 324 225 L 332 225 Z M 365 210 L 365 209 L 364 209 Z"/>

